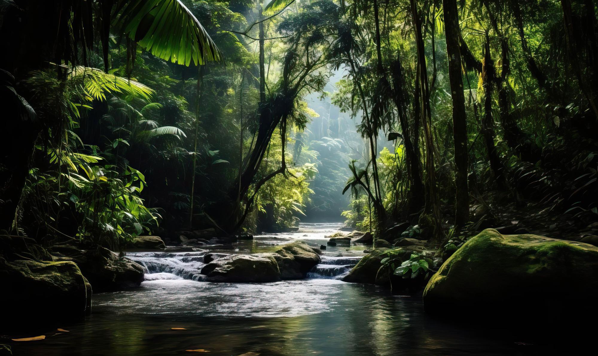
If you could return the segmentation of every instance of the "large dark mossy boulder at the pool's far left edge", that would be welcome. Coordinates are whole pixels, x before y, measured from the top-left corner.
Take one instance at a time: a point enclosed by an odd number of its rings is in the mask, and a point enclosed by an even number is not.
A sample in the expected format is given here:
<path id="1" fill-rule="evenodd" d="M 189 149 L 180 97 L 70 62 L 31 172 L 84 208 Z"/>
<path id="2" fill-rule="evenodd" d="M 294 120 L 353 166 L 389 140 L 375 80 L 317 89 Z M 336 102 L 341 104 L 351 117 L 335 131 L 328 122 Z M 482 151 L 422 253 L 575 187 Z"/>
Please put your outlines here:
<path id="1" fill-rule="evenodd" d="M 74 262 L 36 262 L 0 257 L 0 329 L 39 327 L 83 318 L 91 286 Z"/>

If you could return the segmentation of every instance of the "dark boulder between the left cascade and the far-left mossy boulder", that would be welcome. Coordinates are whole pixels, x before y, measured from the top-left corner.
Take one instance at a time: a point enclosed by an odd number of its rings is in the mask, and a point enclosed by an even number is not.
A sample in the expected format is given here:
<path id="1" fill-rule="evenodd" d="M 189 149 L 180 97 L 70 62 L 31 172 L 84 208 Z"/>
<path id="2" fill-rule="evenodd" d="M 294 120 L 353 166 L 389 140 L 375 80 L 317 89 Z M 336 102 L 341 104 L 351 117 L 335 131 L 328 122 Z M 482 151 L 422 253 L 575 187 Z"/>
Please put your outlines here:
<path id="1" fill-rule="evenodd" d="M 144 267 L 108 248 L 79 250 L 71 245 L 53 247 L 62 256 L 57 260 L 70 260 L 79 266 L 83 275 L 97 292 L 137 287 L 144 281 Z"/>

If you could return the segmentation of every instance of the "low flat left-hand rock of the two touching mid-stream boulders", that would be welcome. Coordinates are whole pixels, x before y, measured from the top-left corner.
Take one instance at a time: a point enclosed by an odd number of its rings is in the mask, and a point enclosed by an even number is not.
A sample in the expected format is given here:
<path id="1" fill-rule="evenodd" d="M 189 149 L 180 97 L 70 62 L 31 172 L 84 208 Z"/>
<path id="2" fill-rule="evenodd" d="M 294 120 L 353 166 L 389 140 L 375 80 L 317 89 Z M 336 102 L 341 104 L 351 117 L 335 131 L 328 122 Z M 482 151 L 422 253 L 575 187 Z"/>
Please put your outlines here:
<path id="1" fill-rule="evenodd" d="M 274 282 L 280 281 L 278 264 L 265 254 L 230 254 L 212 260 L 202 268 L 210 282 Z"/>

